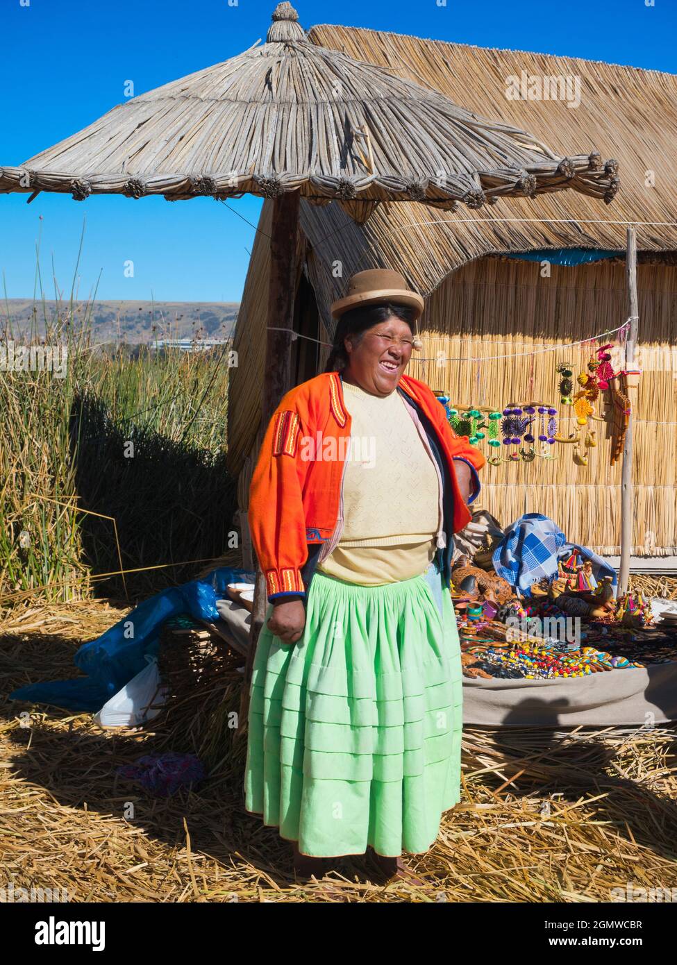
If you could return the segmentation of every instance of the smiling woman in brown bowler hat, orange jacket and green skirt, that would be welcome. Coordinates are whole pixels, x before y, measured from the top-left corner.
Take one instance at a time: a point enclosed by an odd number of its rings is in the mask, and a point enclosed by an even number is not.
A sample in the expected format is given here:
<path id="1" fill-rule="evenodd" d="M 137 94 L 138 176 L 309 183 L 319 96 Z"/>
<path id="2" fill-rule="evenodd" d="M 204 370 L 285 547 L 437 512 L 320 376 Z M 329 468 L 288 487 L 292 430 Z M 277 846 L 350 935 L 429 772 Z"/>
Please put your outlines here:
<path id="1" fill-rule="evenodd" d="M 368 847 L 406 873 L 460 799 L 450 559 L 485 459 L 404 374 L 422 311 L 398 272 L 354 275 L 326 372 L 280 402 L 252 478 L 270 607 L 246 808 L 295 842 L 299 874 Z"/>

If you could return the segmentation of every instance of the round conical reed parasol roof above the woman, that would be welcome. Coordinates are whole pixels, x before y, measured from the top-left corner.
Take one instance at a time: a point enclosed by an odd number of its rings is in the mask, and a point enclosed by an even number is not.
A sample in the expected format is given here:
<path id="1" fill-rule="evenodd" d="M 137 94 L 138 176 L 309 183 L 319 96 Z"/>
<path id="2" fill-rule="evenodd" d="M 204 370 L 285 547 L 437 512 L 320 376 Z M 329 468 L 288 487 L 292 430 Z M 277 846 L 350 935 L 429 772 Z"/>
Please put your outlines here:
<path id="1" fill-rule="evenodd" d="M 617 163 L 596 151 L 564 157 L 437 90 L 310 41 L 281 3 L 265 43 L 133 97 L 22 165 L 0 168 L 0 192 L 175 201 L 298 189 L 364 221 L 380 201 L 453 210 L 574 188 L 608 202 L 616 175 Z"/>

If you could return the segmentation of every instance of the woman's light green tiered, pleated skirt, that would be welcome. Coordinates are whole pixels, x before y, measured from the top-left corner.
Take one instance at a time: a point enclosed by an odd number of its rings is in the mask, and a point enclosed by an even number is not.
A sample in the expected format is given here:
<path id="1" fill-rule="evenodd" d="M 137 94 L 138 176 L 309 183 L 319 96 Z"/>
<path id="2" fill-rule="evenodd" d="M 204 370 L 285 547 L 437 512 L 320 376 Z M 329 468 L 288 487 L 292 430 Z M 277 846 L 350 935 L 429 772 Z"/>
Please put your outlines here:
<path id="1" fill-rule="evenodd" d="M 456 619 L 432 567 L 381 587 L 317 572 L 301 639 L 261 631 L 246 809 L 306 855 L 427 851 L 460 800 L 462 703 Z"/>

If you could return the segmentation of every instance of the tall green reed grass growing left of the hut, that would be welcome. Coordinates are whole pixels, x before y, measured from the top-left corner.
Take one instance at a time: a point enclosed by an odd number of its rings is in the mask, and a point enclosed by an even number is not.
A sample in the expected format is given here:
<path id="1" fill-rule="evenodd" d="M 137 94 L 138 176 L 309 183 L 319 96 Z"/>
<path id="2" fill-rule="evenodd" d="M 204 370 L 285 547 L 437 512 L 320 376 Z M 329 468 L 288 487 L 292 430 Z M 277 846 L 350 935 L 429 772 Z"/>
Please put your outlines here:
<path id="1" fill-rule="evenodd" d="M 5 302 L 0 346 L 68 360 L 64 377 L 0 371 L 0 609 L 153 592 L 228 546 L 225 349 L 106 352 L 92 307 L 38 297 L 21 335 Z"/>

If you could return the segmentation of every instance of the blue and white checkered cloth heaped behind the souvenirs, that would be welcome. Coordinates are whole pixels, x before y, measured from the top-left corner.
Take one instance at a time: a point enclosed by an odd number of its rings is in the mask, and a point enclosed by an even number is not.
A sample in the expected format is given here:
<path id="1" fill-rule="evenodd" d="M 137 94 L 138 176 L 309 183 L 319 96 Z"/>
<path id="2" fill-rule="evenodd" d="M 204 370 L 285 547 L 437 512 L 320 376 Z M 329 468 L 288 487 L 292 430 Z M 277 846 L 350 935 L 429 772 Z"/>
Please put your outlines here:
<path id="1" fill-rule="evenodd" d="M 492 562 L 496 573 L 520 595 L 530 596 L 532 584 L 544 576 L 549 580 L 556 576 L 558 561 L 566 560 L 574 550 L 578 550 L 583 560 L 590 561 L 598 582 L 610 576 L 615 588 L 617 578 L 613 567 L 586 546 L 567 542 L 562 531 L 540 512 L 527 512 L 507 528 L 494 550 Z"/>

